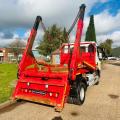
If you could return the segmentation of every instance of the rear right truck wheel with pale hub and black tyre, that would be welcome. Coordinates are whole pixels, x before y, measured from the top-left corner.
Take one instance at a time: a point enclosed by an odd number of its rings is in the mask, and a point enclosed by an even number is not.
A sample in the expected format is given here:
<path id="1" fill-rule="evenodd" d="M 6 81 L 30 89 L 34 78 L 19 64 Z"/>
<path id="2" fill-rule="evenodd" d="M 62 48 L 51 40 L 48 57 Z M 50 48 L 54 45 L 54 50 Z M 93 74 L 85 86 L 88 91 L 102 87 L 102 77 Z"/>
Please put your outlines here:
<path id="1" fill-rule="evenodd" d="M 86 92 L 86 85 L 83 82 L 80 82 L 77 87 L 79 105 L 82 105 L 85 101 L 85 92 Z"/>

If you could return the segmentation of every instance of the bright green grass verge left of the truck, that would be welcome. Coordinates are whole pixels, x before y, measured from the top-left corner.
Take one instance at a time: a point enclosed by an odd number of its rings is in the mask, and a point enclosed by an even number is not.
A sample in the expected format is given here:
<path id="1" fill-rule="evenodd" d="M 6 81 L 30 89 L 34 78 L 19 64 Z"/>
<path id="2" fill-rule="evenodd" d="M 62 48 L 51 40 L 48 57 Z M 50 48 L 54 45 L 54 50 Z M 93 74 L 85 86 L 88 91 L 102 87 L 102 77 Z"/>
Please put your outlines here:
<path id="1" fill-rule="evenodd" d="M 13 83 L 17 79 L 16 74 L 16 64 L 0 64 L 0 103 L 11 96 Z"/>

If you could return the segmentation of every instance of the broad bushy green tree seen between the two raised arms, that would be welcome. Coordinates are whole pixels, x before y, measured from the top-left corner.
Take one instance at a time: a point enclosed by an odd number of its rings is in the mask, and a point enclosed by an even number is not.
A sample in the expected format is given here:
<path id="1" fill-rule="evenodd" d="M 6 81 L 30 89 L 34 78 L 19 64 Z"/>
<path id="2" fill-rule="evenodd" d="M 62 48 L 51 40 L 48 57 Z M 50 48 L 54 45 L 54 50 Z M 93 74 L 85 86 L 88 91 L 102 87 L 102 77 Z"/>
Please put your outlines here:
<path id="1" fill-rule="evenodd" d="M 58 49 L 62 43 L 67 42 L 66 29 L 61 30 L 57 25 L 52 25 L 46 30 L 43 36 L 43 40 L 40 41 L 37 47 L 38 51 L 42 55 L 50 55 L 54 50 Z"/>

